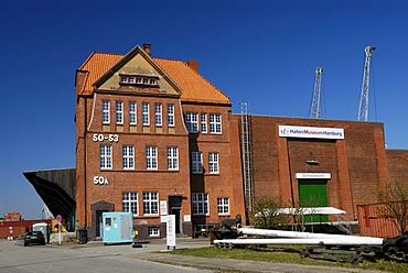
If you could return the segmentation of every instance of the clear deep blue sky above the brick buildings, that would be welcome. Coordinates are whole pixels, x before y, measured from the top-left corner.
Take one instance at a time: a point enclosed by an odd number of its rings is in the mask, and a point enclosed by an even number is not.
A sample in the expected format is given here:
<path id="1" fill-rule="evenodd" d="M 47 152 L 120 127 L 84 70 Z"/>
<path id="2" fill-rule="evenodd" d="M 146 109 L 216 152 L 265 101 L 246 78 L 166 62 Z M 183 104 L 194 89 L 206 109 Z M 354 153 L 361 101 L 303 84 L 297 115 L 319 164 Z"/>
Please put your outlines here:
<path id="1" fill-rule="evenodd" d="M 374 45 L 369 120 L 407 149 L 408 2 L 4 1 L 0 8 L 0 216 L 41 218 L 24 171 L 75 167 L 75 70 L 92 52 L 197 59 L 233 111 L 309 116 L 323 70 L 323 118 L 356 120 L 364 47 Z"/>

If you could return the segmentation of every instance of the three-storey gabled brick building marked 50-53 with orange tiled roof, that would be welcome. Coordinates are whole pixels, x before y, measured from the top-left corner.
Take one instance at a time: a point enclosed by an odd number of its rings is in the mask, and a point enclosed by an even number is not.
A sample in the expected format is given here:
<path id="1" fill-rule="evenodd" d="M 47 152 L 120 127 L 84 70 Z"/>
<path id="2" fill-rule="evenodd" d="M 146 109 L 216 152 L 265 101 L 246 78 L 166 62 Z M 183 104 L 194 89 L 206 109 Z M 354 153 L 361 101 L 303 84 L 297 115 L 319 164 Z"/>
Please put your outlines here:
<path id="1" fill-rule="evenodd" d="M 144 45 L 77 70 L 76 218 L 90 238 L 104 211 L 132 211 L 141 237 L 163 234 L 165 215 L 191 236 L 243 211 L 232 105 L 197 69 Z"/>

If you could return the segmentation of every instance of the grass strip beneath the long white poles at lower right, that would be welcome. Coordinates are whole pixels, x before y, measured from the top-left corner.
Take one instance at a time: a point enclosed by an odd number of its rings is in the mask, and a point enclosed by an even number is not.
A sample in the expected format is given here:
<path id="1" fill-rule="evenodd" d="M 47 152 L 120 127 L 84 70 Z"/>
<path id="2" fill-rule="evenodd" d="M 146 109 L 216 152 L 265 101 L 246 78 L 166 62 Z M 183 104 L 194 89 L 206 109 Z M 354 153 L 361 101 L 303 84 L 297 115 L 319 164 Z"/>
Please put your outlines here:
<path id="1" fill-rule="evenodd" d="M 303 265 L 320 266 L 342 266 L 358 270 L 378 270 L 385 272 L 408 272 L 408 263 L 405 259 L 389 256 L 387 259 L 376 259 L 375 261 L 364 261 L 358 264 L 346 262 L 331 262 L 310 258 L 302 258 L 299 252 L 304 250 L 303 247 L 293 248 L 241 248 L 241 249 L 221 249 L 216 247 L 206 247 L 198 249 L 175 250 L 169 253 L 179 255 L 192 255 L 202 258 L 236 259 L 250 260 L 270 263 L 294 263 Z"/>

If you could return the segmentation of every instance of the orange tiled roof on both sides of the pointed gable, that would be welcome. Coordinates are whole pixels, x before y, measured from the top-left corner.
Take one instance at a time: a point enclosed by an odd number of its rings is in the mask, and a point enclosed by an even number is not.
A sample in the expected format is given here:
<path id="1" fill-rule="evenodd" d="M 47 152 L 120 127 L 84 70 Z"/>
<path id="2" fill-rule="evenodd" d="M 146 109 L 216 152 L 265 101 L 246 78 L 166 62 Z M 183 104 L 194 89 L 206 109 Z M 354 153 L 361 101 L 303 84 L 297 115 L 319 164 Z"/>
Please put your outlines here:
<path id="1" fill-rule="evenodd" d="M 88 72 L 82 95 L 90 95 L 93 84 L 109 68 L 118 63 L 124 55 L 108 53 L 93 53 L 79 67 Z M 230 103 L 229 98 L 213 86 L 186 63 L 175 59 L 152 58 L 182 89 L 182 101 Z"/>

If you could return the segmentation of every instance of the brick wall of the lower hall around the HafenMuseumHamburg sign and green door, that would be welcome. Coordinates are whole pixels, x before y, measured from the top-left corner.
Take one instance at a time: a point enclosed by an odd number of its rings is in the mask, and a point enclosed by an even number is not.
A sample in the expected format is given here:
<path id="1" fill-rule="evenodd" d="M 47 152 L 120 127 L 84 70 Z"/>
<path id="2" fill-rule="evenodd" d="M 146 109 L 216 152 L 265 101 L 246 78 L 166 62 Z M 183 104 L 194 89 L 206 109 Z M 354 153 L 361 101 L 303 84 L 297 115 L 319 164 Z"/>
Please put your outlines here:
<path id="1" fill-rule="evenodd" d="M 255 198 L 275 196 L 297 206 L 297 173 L 328 173 L 328 205 L 355 220 L 356 206 L 374 203 L 378 186 L 388 177 L 380 123 L 253 116 L 250 125 Z M 279 125 L 340 128 L 345 136 L 281 138 Z"/>

